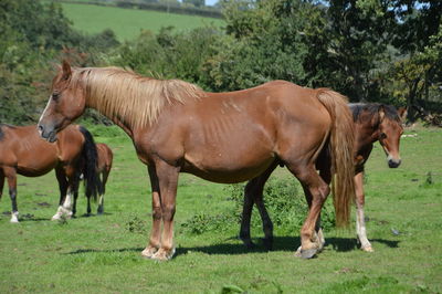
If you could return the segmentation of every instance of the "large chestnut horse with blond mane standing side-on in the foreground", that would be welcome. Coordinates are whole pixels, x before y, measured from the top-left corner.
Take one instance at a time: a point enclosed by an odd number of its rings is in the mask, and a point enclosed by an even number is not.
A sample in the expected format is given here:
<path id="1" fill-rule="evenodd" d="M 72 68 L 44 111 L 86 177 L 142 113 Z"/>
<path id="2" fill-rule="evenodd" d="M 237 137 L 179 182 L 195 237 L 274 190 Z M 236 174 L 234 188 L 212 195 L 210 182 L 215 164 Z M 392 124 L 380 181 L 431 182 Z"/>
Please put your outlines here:
<path id="1" fill-rule="evenodd" d="M 337 222 L 348 223 L 354 133 L 346 99 L 336 92 L 275 81 L 238 92 L 206 93 L 179 80 L 148 78 L 116 67 L 72 69 L 63 62 L 39 122 L 41 136 L 56 140 L 56 133 L 86 107 L 120 126 L 148 166 L 152 229 L 143 256 L 173 255 L 179 172 L 231 183 L 284 164 L 312 200 L 301 231 L 302 256 L 312 258 L 318 246 L 316 220 L 330 191 L 315 169 L 326 149 L 329 171 L 337 175 Z"/>

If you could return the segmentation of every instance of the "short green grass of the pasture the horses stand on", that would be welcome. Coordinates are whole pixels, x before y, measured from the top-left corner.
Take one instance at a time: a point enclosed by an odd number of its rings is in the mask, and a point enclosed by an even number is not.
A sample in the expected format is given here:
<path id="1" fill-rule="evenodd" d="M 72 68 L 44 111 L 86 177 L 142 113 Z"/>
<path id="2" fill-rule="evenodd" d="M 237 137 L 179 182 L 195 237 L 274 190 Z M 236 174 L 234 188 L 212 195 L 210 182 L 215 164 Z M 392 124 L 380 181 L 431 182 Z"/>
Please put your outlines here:
<path id="1" fill-rule="evenodd" d="M 146 167 L 116 127 L 90 127 L 115 154 L 104 216 L 52 222 L 57 186 L 51 172 L 19 178 L 22 221 L 9 223 L 0 202 L 0 293 L 414 293 L 442 292 L 442 129 L 408 129 L 403 164 L 389 169 L 377 146 L 367 166 L 366 213 L 375 253 L 357 249 L 354 225 L 326 232 L 317 259 L 299 260 L 299 233 L 275 231 L 274 251 L 248 251 L 239 224 L 200 235 L 181 223 L 197 212 L 231 209 L 224 186 L 182 175 L 178 188 L 173 260 L 140 258 L 150 229 Z M 430 174 L 429 174 L 430 172 Z M 287 177 L 283 169 L 275 177 Z M 7 192 L 7 188 L 4 189 Z M 262 233 L 253 231 L 259 242 Z"/>

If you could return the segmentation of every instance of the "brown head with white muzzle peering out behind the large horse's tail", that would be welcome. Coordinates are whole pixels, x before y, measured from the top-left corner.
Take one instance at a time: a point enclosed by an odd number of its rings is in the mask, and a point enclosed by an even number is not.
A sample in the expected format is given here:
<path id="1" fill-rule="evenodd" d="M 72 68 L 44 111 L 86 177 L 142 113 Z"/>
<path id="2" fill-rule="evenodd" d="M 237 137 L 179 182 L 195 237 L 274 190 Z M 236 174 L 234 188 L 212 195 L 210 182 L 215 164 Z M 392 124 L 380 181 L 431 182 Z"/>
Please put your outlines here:
<path id="1" fill-rule="evenodd" d="M 392 106 L 381 105 L 379 107 L 379 143 L 387 155 L 390 168 L 397 168 L 401 164 L 399 143 L 403 133 L 401 118 L 404 109 L 399 109 L 397 114 L 396 112 Z"/>

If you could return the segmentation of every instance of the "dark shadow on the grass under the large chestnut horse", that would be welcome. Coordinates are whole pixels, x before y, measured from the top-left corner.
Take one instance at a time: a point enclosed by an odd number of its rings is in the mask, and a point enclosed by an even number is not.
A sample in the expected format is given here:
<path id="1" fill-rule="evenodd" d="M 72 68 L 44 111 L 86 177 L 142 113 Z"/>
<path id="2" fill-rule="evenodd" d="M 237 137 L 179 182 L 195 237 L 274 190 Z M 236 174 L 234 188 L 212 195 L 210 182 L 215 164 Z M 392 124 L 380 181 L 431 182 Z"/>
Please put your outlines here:
<path id="1" fill-rule="evenodd" d="M 211 244 L 204 246 L 179 246 L 176 251 L 176 256 L 181 254 L 187 254 L 189 252 L 201 252 L 206 254 L 231 254 L 231 255 L 240 255 L 240 254 L 248 254 L 248 253 L 265 253 L 269 250 L 262 244 L 261 240 L 254 239 L 255 246 L 252 249 L 245 248 L 242 243 L 229 243 L 231 240 L 236 240 L 235 237 L 225 239 L 224 242 L 219 244 Z M 389 248 L 398 248 L 400 241 L 392 241 L 392 240 L 383 240 L 383 239 L 372 239 L 373 243 L 382 243 Z M 298 237 L 275 237 L 274 238 L 274 246 L 273 251 L 296 251 L 297 248 L 301 245 L 301 240 Z M 337 252 L 347 252 L 359 249 L 359 245 L 356 242 L 356 239 L 350 238 L 328 238 L 326 239 L 325 246 L 332 246 L 333 250 Z M 124 248 L 124 249 L 115 249 L 115 250 L 96 250 L 96 249 L 81 249 L 76 251 L 72 251 L 65 254 L 82 254 L 82 253 L 90 253 L 90 252 L 141 252 L 144 248 Z"/>

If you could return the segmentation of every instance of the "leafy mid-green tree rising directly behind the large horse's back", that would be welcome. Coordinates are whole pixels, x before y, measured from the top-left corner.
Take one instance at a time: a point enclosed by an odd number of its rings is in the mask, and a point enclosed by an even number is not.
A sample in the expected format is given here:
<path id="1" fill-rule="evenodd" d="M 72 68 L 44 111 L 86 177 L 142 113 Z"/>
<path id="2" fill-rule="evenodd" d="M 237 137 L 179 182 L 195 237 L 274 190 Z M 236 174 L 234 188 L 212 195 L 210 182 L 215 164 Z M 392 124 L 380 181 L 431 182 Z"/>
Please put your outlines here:
<path id="1" fill-rule="evenodd" d="M 228 35 L 215 40 L 203 67 L 209 88 L 240 90 L 272 80 L 302 84 L 307 51 L 298 34 L 304 21 L 297 18 L 302 4 L 225 1 L 223 8 Z"/>

